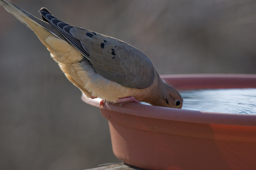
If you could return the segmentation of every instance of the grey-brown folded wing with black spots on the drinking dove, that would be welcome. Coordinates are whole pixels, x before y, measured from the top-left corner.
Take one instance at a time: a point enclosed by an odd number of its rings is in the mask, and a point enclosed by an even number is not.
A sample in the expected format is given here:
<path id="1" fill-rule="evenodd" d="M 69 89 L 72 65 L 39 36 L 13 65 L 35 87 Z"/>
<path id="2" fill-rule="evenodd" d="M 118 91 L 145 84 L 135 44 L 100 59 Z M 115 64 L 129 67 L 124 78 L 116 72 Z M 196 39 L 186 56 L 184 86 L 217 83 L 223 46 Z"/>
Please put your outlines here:
<path id="1" fill-rule="evenodd" d="M 155 78 L 153 64 L 131 45 L 83 28 L 71 26 L 42 8 L 44 21 L 53 25 L 88 60 L 102 77 L 130 88 L 144 89 Z"/>

